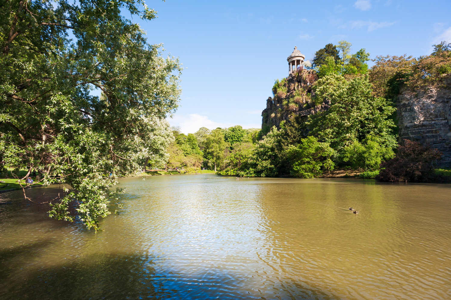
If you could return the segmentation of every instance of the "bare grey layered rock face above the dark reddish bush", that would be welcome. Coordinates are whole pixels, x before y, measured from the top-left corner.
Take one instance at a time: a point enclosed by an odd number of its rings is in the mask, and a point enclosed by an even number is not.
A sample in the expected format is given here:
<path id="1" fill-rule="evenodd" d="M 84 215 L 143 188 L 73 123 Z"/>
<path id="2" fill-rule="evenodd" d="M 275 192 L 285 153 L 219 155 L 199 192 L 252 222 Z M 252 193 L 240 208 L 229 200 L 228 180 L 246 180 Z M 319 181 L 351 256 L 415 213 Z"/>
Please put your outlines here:
<path id="1" fill-rule="evenodd" d="M 401 90 L 397 102 L 399 142 L 429 144 L 443 152 L 442 167 L 451 167 L 451 75 L 444 85 Z"/>

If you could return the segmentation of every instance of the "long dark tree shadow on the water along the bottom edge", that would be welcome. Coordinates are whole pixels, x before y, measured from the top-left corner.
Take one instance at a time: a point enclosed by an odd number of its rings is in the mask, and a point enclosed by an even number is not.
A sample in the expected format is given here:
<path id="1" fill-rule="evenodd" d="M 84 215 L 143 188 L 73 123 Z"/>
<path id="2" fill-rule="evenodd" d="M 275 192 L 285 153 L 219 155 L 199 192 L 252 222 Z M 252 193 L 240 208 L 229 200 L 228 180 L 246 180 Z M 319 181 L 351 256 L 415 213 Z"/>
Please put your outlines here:
<path id="1" fill-rule="evenodd" d="M 51 240 L 42 241 L 46 242 L 51 243 Z M 36 255 L 34 247 L 36 245 L 0 252 L 1 300 L 341 299 L 296 282 L 285 282 L 281 290 L 267 286 L 260 291 L 256 286 L 253 293 L 248 293 L 241 291 L 240 285 L 235 286 L 239 278 L 216 272 L 187 282 L 182 274 L 156 273 L 152 260 L 143 254 L 97 253 L 62 264 L 46 261 L 52 265 L 40 267 L 30 265 L 32 256 Z M 9 261 L 15 263 L 10 265 Z"/>

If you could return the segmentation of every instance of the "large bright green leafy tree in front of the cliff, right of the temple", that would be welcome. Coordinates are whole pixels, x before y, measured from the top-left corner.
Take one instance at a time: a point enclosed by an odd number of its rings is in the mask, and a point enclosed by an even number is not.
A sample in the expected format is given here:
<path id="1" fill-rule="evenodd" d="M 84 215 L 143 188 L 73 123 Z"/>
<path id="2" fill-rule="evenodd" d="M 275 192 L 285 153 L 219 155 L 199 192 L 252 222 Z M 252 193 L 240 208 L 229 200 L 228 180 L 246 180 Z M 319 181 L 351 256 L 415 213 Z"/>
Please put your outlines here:
<path id="1" fill-rule="evenodd" d="M 387 119 L 396 108 L 372 95 L 368 75 L 347 81 L 341 75 L 331 74 L 319 79 L 313 88 L 315 101 L 330 103 L 330 107 L 308 117 L 309 135 L 330 143 L 339 152 L 368 136 L 377 137 L 384 147 L 396 147 L 396 136 L 391 130 L 395 124 Z"/>

